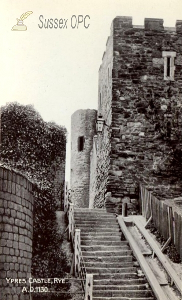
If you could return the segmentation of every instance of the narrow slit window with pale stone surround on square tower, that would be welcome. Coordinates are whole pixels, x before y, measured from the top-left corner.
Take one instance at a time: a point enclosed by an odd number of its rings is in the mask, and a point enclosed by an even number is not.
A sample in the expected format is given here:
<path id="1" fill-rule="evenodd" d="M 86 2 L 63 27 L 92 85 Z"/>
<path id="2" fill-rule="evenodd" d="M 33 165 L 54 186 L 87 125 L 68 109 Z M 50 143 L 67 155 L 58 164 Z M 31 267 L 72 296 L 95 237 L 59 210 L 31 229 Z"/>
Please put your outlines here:
<path id="1" fill-rule="evenodd" d="M 164 57 L 164 79 L 175 80 L 175 51 L 163 51 Z"/>

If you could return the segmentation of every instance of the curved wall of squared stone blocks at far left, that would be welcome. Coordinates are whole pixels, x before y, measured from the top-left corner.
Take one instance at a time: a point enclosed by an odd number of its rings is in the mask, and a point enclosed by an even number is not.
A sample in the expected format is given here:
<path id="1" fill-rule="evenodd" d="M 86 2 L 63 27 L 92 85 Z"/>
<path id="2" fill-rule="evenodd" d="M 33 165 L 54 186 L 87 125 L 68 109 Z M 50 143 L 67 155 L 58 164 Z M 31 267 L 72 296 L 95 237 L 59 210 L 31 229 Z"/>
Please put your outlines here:
<path id="1" fill-rule="evenodd" d="M 27 300 L 23 286 L 5 277 L 29 278 L 31 271 L 33 196 L 32 183 L 0 167 L 0 299 Z"/>

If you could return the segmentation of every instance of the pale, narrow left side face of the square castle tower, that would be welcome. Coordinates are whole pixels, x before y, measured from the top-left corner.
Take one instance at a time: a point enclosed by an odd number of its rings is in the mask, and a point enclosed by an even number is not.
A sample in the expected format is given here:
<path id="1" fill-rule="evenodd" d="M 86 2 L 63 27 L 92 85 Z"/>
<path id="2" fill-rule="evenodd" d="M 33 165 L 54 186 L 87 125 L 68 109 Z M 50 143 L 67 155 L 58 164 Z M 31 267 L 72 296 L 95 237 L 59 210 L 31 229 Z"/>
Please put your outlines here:
<path id="1" fill-rule="evenodd" d="M 112 120 L 111 101 L 113 69 L 113 39 L 111 36 L 107 39 L 106 51 L 103 54 L 102 61 L 103 63 L 99 69 L 98 115 L 101 114 L 107 125 L 110 126 Z M 108 177 L 110 161 L 110 138 L 111 130 L 109 127 L 105 126 L 103 133 L 98 134 L 96 171 L 91 174 L 91 180 L 95 180 L 95 189 L 91 194 L 92 199 L 94 198 L 94 208 L 105 207 L 106 180 Z"/>

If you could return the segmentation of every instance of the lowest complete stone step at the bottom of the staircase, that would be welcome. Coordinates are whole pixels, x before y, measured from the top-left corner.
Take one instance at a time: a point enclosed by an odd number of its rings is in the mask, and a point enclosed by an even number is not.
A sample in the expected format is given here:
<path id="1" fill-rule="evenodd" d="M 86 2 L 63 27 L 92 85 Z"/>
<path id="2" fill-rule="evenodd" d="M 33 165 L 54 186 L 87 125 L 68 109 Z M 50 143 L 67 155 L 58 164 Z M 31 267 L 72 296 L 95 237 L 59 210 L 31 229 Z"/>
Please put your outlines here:
<path id="1" fill-rule="evenodd" d="M 100 297 L 151 297 L 151 290 L 93 290 L 93 296 Z M 161 299 L 162 300 L 162 299 Z"/>

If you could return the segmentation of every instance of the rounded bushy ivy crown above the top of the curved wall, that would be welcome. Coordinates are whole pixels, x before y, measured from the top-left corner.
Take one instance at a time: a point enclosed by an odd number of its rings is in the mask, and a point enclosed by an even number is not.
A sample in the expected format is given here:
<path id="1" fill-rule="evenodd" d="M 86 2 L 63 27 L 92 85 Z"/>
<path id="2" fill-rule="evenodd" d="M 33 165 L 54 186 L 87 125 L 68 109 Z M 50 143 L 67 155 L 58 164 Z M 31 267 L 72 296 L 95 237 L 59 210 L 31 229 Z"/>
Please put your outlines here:
<path id="1" fill-rule="evenodd" d="M 47 171 L 58 155 L 64 157 L 66 128 L 45 122 L 32 105 L 1 106 L 1 162 L 45 186 Z M 49 184 L 48 184 L 49 185 Z"/>

